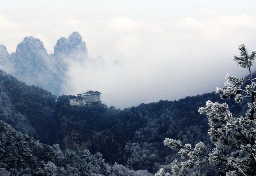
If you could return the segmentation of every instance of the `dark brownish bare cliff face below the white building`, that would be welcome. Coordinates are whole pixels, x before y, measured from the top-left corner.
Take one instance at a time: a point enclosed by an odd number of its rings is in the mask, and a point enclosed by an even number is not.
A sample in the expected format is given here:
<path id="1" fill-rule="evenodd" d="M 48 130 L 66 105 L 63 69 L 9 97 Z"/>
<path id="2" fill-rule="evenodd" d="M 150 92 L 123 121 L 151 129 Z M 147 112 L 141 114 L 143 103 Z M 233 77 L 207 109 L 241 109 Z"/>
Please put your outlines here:
<path id="1" fill-rule="evenodd" d="M 62 149 L 90 150 L 92 153 L 100 152 L 108 161 L 115 161 L 119 157 L 119 150 L 126 142 L 107 130 L 85 130 L 70 127 L 69 120 L 62 116 L 60 119 Z M 115 156 L 113 155 L 115 153 Z"/>

